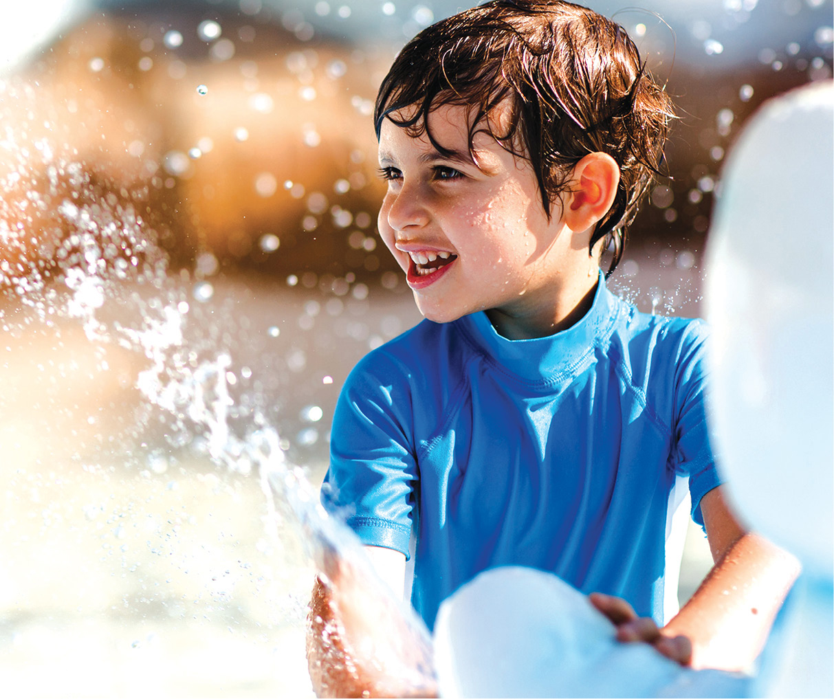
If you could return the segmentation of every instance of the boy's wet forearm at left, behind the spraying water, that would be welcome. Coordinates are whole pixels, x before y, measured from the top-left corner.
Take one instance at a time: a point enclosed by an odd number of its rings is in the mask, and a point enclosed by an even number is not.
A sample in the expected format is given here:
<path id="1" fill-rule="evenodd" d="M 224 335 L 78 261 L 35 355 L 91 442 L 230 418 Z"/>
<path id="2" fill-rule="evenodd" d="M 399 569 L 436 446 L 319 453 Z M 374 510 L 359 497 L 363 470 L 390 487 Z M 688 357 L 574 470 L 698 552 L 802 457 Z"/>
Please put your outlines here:
<path id="1" fill-rule="evenodd" d="M 394 601 L 403 596 L 405 556 L 365 551 L 391 590 L 344 560 L 316 577 L 307 625 L 313 689 L 317 696 L 436 696 L 430 647 Z"/>

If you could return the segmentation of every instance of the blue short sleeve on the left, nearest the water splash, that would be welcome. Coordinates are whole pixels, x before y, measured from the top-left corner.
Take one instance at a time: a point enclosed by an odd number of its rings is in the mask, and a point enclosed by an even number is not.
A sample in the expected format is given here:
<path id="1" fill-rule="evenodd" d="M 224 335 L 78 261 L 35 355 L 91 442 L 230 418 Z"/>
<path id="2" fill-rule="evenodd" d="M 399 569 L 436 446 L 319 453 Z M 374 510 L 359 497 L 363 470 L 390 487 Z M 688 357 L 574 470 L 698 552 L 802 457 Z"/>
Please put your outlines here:
<path id="1" fill-rule="evenodd" d="M 377 351 L 345 381 L 330 434 L 321 500 L 359 541 L 409 556 L 417 467 L 409 377 Z"/>

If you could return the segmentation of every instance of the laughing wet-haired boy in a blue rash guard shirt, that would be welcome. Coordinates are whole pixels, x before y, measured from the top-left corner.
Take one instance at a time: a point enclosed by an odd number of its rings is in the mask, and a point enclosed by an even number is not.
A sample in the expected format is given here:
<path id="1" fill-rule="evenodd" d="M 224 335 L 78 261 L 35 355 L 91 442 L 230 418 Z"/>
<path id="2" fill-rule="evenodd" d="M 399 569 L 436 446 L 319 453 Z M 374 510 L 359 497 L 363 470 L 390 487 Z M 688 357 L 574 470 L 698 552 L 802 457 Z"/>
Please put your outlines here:
<path id="1" fill-rule="evenodd" d="M 600 274 L 671 117 L 625 31 L 558 0 L 441 21 L 379 89 L 379 233 L 427 320 L 349 376 L 322 499 L 395 591 L 413 562 L 429 628 L 480 571 L 531 566 L 595 593 L 623 641 L 739 669 L 796 574 L 721 495 L 701 324 L 640 314 Z M 718 565 L 661 630 L 687 485 Z M 400 670 L 362 649 L 394 631 L 335 572 L 314 591 L 316 691 L 393 693 Z"/>

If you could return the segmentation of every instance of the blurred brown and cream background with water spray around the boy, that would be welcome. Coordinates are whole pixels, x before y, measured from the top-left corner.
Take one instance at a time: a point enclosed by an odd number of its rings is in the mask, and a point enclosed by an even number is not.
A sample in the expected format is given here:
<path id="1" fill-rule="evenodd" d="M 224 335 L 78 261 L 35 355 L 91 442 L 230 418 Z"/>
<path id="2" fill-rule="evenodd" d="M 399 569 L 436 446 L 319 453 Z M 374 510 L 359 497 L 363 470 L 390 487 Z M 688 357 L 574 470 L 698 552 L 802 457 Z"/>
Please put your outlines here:
<path id="1" fill-rule="evenodd" d="M 698 315 L 721 164 L 763 100 L 831 78 L 831 0 L 588 4 L 680 117 L 611 285 Z M 420 319 L 375 233 L 375 89 L 469 5 L 24 5 L 0 10 L 9 694 L 309 696 L 296 500 L 350 368 Z M 273 498 L 264 432 L 299 466 Z M 681 601 L 709 563 L 693 529 Z"/>

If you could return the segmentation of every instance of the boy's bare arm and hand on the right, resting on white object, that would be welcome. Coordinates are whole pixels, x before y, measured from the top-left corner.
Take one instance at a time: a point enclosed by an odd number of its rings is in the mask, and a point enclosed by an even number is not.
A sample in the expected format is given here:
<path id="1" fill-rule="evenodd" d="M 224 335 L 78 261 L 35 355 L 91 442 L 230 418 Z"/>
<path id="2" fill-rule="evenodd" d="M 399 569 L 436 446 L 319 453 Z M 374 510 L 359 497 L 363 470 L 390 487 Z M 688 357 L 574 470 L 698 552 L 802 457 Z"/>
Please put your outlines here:
<path id="1" fill-rule="evenodd" d="M 732 515 L 721 487 L 701 500 L 713 566 L 681 611 L 662 629 L 638 618 L 616 597 L 591 601 L 617 626 L 620 641 L 646 641 L 663 655 L 695 668 L 746 671 L 764 646 L 776 612 L 800 566 L 796 558 Z"/>

